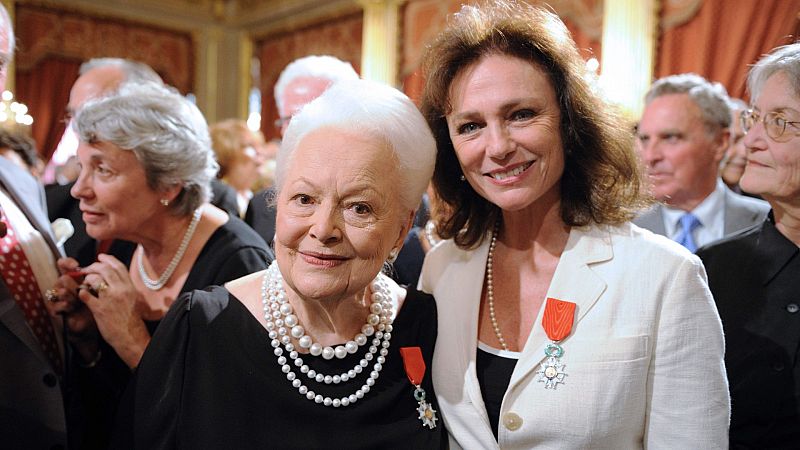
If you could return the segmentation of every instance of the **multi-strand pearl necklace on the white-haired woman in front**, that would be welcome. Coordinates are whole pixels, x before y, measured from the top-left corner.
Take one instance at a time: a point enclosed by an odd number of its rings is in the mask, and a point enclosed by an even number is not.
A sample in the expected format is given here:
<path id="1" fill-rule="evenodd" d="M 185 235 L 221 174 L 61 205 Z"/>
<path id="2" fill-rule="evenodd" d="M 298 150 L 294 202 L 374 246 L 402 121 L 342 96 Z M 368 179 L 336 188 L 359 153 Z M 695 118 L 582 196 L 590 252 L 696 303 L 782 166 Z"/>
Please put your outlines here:
<path id="1" fill-rule="evenodd" d="M 286 379 L 292 383 L 292 387 L 297 389 L 300 395 L 308 400 L 312 400 L 323 406 L 348 406 L 359 399 L 364 398 L 380 376 L 383 364 L 386 363 L 386 355 L 389 354 L 389 341 L 392 338 L 392 303 L 389 290 L 380 277 L 375 278 L 371 283 L 372 296 L 370 297 L 370 313 L 367 316 L 367 323 L 361 327 L 361 333 L 356 334 L 353 340 L 345 345 L 323 347 L 319 343 L 313 342 L 310 336 L 305 334 L 305 329 L 300 324 L 300 320 L 294 314 L 292 305 L 286 299 L 286 291 L 283 289 L 283 277 L 278 269 L 277 262 L 273 261 L 264 274 L 261 284 L 261 302 L 264 307 L 264 320 L 269 331 L 270 345 L 273 353 L 277 357 L 281 371 L 286 374 Z M 295 349 L 292 338 L 297 339 L 301 348 L 307 349 L 311 356 L 322 356 L 324 359 L 344 359 L 347 355 L 356 353 L 360 347 L 365 345 L 372 337 L 371 345 L 363 358 L 347 370 L 336 375 L 326 375 L 311 369 L 308 364 L 300 357 L 300 353 Z M 375 357 L 375 354 L 378 354 Z M 288 354 L 289 358 L 286 358 Z M 317 383 L 340 384 L 355 379 L 364 369 L 369 366 L 370 361 L 375 360 L 369 377 L 364 384 L 354 393 L 341 397 L 331 398 L 323 396 L 310 390 L 298 378 L 292 365 L 299 368 L 301 374 L 305 374 L 309 379 Z M 290 364 L 291 360 L 291 364 Z"/>

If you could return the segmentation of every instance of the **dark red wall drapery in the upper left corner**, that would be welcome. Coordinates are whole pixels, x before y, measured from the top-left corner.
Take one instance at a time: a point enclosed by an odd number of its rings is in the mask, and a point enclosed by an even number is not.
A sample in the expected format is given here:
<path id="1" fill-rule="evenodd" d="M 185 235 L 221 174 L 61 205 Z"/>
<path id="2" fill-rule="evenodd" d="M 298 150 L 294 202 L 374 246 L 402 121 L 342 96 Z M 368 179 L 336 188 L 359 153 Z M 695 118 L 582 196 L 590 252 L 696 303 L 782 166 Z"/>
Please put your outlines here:
<path id="1" fill-rule="evenodd" d="M 27 4 L 17 5 L 15 20 L 16 96 L 33 116 L 32 134 L 45 160 L 63 133 L 60 120 L 82 61 L 141 61 L 179 91 L 193 89 L 195 50 L 187 32 Z"/>

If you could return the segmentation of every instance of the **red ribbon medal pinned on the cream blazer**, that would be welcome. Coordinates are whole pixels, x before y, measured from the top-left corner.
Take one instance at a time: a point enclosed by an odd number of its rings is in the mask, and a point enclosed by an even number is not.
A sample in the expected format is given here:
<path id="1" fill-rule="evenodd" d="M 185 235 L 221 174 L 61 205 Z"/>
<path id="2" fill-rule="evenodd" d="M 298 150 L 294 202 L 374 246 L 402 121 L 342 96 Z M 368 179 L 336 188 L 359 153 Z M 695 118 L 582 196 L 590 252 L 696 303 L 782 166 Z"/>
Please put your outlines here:
<path id="1" fill-rule="evenodd" d="M 558 342 L 569 336 L 572 331 L 575 306 L 575 303 L 556 298 L 548 298 L 544 306 L 542 327 L 547 333 L 547 337 L 553 342 L 544 348 L 544 355 L 547 359 L 542 362 L 536 373 L 539 375 L 539 382 L 544 383 L 545 389 L 555 389 L 558 383 L 563 383 L 564 377 L 567 376 L 564 372 L 564 364 L 561 363 L 564 349 L 558 345 Z"/>

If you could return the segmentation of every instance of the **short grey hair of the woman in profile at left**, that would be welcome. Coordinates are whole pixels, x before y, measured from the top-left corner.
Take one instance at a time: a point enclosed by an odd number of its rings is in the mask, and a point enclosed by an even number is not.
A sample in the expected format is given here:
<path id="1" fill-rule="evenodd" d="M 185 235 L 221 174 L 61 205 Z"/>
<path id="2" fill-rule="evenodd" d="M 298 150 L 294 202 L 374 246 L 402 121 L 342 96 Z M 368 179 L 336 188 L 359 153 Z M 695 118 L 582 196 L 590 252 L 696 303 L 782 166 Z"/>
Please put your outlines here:
<path id="1" fill-rule="evenodd" d="M 181 185 L 182 192 L 170 204 L 175 214 L 189 215 L 211 198 L 211 180 L 219 166 L 208 124 L 174 89 L 124 83 L 115 93 L 84 104 L 73 127 L 84 142 L 133 151 L 151 189 Z"/>

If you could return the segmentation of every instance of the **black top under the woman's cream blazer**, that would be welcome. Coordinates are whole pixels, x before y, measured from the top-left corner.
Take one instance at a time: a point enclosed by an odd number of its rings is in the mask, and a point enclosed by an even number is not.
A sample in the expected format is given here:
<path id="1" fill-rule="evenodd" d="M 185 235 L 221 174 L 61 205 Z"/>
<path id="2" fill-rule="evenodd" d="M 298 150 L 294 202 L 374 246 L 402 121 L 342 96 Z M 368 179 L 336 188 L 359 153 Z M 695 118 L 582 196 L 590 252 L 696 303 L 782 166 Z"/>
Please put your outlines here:
<path id="1" fill-rule="evenodd" d="M 483 404 L 486 406 L 486 413 L 489 415 L 489 423 L 492 425 L 495 440 L 497 439 L 503 396 L 506 395 L 508 383 L 511 381 L 511 374 L 514 373 L 516 365 L 517 360 L 514 358 L 506 358 L 478 348 L 475 371 L 478 375 Z"/>

